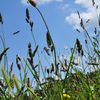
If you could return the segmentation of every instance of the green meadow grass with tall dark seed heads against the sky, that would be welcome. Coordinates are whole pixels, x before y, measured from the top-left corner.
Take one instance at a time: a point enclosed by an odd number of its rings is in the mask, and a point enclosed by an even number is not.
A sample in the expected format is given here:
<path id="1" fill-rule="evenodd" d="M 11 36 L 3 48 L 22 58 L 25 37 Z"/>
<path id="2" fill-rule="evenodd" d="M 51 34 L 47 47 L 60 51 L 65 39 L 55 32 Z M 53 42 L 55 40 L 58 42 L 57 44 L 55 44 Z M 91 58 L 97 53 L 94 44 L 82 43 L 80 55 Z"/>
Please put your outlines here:
<path id="1" fill-rule="evenodd" d="M 11 66 L 7 66 L 9 48 L 6 47 L 5 38 L 0 33 L 3 45 L 3 50 L 0 51 L 0 66 L 2 66 L 0 100 L 100 100 L 100 16 L 98 17 L 98 26 L 94 28 L 94 35 L 91 37 L 84 26 L 79 11 L 77 12 L 80 26 L 86 36 L 84 38 L 85 47 L 77 38 L 70 50 L 69 57 L 60 59 L 42 12 L 34 1 L 29 0 L 29 3 L 37 10 L 45 24 L 47 46 L 44 47 L 44 51 L 46 56 L 52 57 L 54 61 L 50 62 L 49 68 L 43 70 L 38 51 L 39 44 L 36 43 L 34 37 L 33 21 L 30 18 L 29 9 L 26 8 L 26 23 L 29 25 L 35 49 L 33 50 L 32 44 L 29 43 L 27 46 L 28 55 L 24 60 L 16 55 L 16 66 L 20 73 L 18 77 L 12 72 L 13 63 Z M 1 13 L 0 24 L 3 25 Z M 19 31 L 13 35 L 18 33 Z M 35 65 L 36 55 L 38 56 L 38 64 Z M 28 76 L 28 72 L 31 77 Z M 40 73 L 43 74 L 43 77 Z"/>

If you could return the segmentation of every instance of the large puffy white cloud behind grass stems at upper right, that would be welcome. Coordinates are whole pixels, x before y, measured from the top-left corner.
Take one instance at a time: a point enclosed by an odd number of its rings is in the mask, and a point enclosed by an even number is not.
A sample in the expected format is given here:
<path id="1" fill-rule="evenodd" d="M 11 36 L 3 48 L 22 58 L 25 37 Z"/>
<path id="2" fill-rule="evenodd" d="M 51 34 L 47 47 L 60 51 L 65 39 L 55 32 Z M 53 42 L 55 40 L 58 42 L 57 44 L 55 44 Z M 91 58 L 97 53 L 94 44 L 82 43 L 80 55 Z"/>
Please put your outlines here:
<path id="1" fill-rule="evenodd" d="M 100 0 L 94 0 L 95 3 L 100 4 Z M 97 12 L 95 8 L 92 5 L 92 0 L 75 0 L 74 2 L 76 5 L 80 5 L 86 9 L 86 11 L 83 11 L 80 13 L 81 18 L 83 18 L 84 21 L 87 21 L 90 19 L 90 23 L 87 25 L 88 27 L 91 26 L 91 24 L 96 24 L 97 21 L 97 15 L 100 13 L 100 7 L 98 8 Z M 97 5 L 95 4 L 95 5 Z M 79 8 L 80 10 L 80 8 Z M 65 20 L 73 25 L 74 28 L 80 28 L 80 20 L 77 13 L 71 13 L 69 16 L 66 16 Z"/>

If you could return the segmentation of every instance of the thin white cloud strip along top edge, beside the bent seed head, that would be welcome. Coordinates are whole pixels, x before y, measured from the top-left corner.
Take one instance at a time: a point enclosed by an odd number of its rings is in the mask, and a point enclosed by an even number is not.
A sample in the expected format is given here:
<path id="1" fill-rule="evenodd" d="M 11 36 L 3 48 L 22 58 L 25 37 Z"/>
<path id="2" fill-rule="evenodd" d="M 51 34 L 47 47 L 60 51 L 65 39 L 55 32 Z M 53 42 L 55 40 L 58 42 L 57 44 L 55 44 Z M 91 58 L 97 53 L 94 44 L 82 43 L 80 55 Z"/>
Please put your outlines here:
<path id="1" fill-rule="evenodd" d="M 22 0 L 23 4 L 27 4 L 28 0 Z M 34 0 L 38 5 L 47 4 L 51 2 L 62 2 L 63 0 Z"/>

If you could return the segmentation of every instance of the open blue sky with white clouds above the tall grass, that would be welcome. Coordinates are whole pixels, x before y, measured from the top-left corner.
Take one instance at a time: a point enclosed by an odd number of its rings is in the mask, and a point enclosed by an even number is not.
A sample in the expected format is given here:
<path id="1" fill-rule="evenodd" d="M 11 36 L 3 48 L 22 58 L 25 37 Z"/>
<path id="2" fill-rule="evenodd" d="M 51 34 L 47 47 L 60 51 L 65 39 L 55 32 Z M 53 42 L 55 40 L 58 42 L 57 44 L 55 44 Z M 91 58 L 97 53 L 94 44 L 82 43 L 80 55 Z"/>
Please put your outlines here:
<path id="1" fill-rule="evenodd" d="M 58 54 L 64 53 L 65 46 L 69 49 L 73 47 L 76 38 L 83 40 L 82 34 L 75 31 L 76 28 L 80 29 L 77 10 L 80 11 L 80 15 L 83 16 L 85 21 L 91 19 L 90 24 L 87 25 L 88 27 L 91 27 L 91 23 L 93 25 L 96 23 L 97 13 L 95 14 L 92 8 L 91 0 L 35 1 L 48 23 Z M 100 4 L 99 0 L 95 1 Z M 0 0 L 0 12 L 4 20 L 3 32 L 5 33 L 7 46 L 10 47 L 8 51 L 9 62 L 15 62 L 16 54 L 26 57 L 27 45 L 29 42 L 33 43 L 29 27 L 25 21 L 26 8 L 29 8 L 31 19 L 34 22 L 33 32 L 40 51 L 43 50 L 44 46 L 47 46 L 46 29 L 35 9 L 28 5 L 25 0 Z M 13 36 L 12 33 L 18 30 L 20 30 L 20 33 Z"/>

